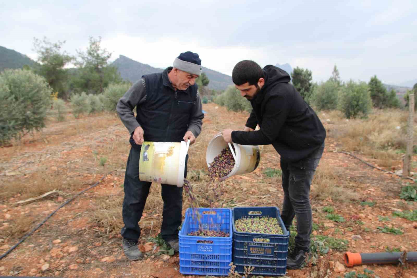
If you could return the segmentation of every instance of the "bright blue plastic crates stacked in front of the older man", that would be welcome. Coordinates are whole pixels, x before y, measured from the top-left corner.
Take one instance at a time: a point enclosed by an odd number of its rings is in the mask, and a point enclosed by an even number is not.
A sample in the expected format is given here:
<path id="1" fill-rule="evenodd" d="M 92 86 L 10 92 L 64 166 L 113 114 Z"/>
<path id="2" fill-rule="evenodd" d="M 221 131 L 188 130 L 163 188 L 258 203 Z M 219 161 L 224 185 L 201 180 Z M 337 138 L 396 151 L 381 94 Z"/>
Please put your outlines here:
<path id="1" fill-rule="evenodd" d="M 201 215 L 197 219 L 196 211 Z M 232 212 L 227 208 L 188 208 L 179 232 L 180 273 L 194 275 L 228 275 L 232 261 Z M 220 230 L 229 237 L 201 237 L 188 233 Z"/>

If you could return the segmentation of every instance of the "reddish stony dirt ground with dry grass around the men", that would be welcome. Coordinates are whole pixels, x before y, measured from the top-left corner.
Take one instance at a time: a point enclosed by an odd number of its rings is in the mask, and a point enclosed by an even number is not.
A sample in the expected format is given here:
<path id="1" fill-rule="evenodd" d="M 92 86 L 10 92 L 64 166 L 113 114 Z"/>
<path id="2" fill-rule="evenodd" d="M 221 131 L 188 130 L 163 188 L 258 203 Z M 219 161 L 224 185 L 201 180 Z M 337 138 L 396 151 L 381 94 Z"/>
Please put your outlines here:
<path id="1" fill-rule="evenodd" d="M 196 187 L 200 183 L 198 179 L 193 182 L 193 177 L 201 173 L 201 169 L 207 169 L 205 147 L 208 141 L 224 128 L 243 129 L 248 116 L 247 113 L 227 111 L 215 104 L 204 104 L 203 109 L 206 111 L 203 132 L 189 152 L 188 178 Z M 332 128 L 331 124 L 324 125 L 328 131 Z M 119 232 L 123 169 L 130 148 L 128 137 L 128 131 L 114 115 L 100 114 L 81 119 L 67 115 L 66 121 L 51 119 L 41 132 L 27 135 L 12 146 L 0 148 L 0 255 L 18 243 L 25 233 L 63 202 L 104 177 L 98 186 L 58 210 L 33 235 L 0 260 L 0 275 L 199 277 L 179 273 L 179 255 L 161 255 L 158 253 L 159 247 L 150 242 L 149 236 L 155 237 L 161 224 L 160 200 L 155 203 L 149 201 L 140 222 L 143 234 L 139 247 L 144 252 L 146 250 L 145 258 L 130 261 L 124 256 Z M 331 197 L 323 200 L 315 183 L 320 179 L 323 186 L 326 179 L 315 177 L 311 194 L 316 197 L 312 198 L 311 203 L 317 228 L 313 230 L 313 235 L 347 240 L 347 250 L 353 253 L 417 251 L 417 223 L 392 216 L 394 211 L 417 209 L 415 203 L 399 198 L 401 187 L 409 181 L 369 167 L 342 150 L 343 146 L 332 136 L 327 136 L 318 172 L 325 169 L 322 173 L 332 173 L 332 186 L 349 189 L 358 196 L 357 201 L 343 200 L 343 192 L 337 200 Z M 373 164 L 371 157 L 356 155 Z M 281 208 L 283 192 L 280 177 L 268 177 L 266 169 L 279 169 L 279 155 L 270 145 L 263 147 L 256 171 L 231 177 L 224 182 L 222 195 L 215 205 Z M 412 171 L 416 172 L 416 169 Z M 7 190 L 10 185 L 21 187 L 21 192 L 10 195 Z M 54 189 L 58 192 L 35 201 L 13 204 Z M 154 199 L 158 199 L 158 185 L 153 184 L 151 190 Z M 360 202 L 372 206 L 360 205 Z M 116 212 L 106 211 L 106 206 L 116 207 Z M 346 221 L 327 219 L 323 208 L 329 206 Z M 183 210 L 187 207 L 188 203 L 184 202 Z M 397 228 L 402 234 L 382 233 L 378 227 L 384 226 L 387 229 Z M 329 262 L 327 277 L 344 277 L 351 271 L 363 274 L 365 268 L 374 272 L 369 277 L 417 277 L 415 263 L 347 268 L 344 266 L 343 253 L 330 249 L 322 256 L 322 262 Z M 288 270 L 286 276 L 306 277 L 309 273 L 314 275 L 315 270 L 314 267 Z"/>

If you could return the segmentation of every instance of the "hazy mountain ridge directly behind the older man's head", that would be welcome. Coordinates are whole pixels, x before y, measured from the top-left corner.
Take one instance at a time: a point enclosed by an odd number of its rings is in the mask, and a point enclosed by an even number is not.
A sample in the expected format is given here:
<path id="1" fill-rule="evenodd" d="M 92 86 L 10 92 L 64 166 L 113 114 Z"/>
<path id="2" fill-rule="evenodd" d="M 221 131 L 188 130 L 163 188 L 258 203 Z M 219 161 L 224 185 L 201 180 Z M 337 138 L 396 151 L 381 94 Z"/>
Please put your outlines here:
<path id="1" fill-rule="evenodd" d="M 158 73 L 163 71 L 163 68 L 154 68 L 149 65 L 139 63 L 126 56 L 120 55 L 113 63 L 112 66 L 116 66 L 123 79 L 129 80 L 135 83 L 142 77 L 143 74 Z M 203 73 L 206 73 L 210 82 L 208 83 L 209 89 L 225 90 L 227 86 L 233 85 L 231 76 L 228 76 L 217 71 L 213 71 L 209 68 L 203 67 Z"/>

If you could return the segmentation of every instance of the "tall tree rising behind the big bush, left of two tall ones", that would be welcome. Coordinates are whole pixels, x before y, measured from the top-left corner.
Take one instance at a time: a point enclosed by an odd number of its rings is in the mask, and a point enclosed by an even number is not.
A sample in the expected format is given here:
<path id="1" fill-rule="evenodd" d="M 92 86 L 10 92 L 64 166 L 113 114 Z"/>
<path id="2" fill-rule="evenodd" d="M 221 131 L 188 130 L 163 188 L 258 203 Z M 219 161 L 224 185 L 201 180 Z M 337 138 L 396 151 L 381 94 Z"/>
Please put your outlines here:
<path id="1" fill-rule="evenodd" d="M 46 79 L 60 98 L 66 98 L 68 93 L 68 74 L 64 67 L 74 60 L 73 56 L 62 51 L 64 43 L 65 40 L 52 43 L 46 37 L 43 40 L 33 38 L 33 50 L 38 53 L 38 64 L 33 70 Z"/>

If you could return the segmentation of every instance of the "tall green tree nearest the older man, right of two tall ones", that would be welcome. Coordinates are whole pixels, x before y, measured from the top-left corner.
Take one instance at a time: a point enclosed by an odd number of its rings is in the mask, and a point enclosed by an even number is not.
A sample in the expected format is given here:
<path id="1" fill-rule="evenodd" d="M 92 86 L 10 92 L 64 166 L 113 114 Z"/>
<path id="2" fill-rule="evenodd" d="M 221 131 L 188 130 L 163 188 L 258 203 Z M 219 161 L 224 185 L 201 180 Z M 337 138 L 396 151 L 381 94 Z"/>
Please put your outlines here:
<path id="1" fill-rule="evenodd" d="M 79 59 L 75 64 L 78 66 L 78 74 L 73 83 L 78 91 L 100 94 L 108 84 L 122 82 L 117 68 L 108 63 L 111 53 L 102 48 L 100 43 L 101 37 L 90 37 L 86 51 L 77 51 Z"/>

